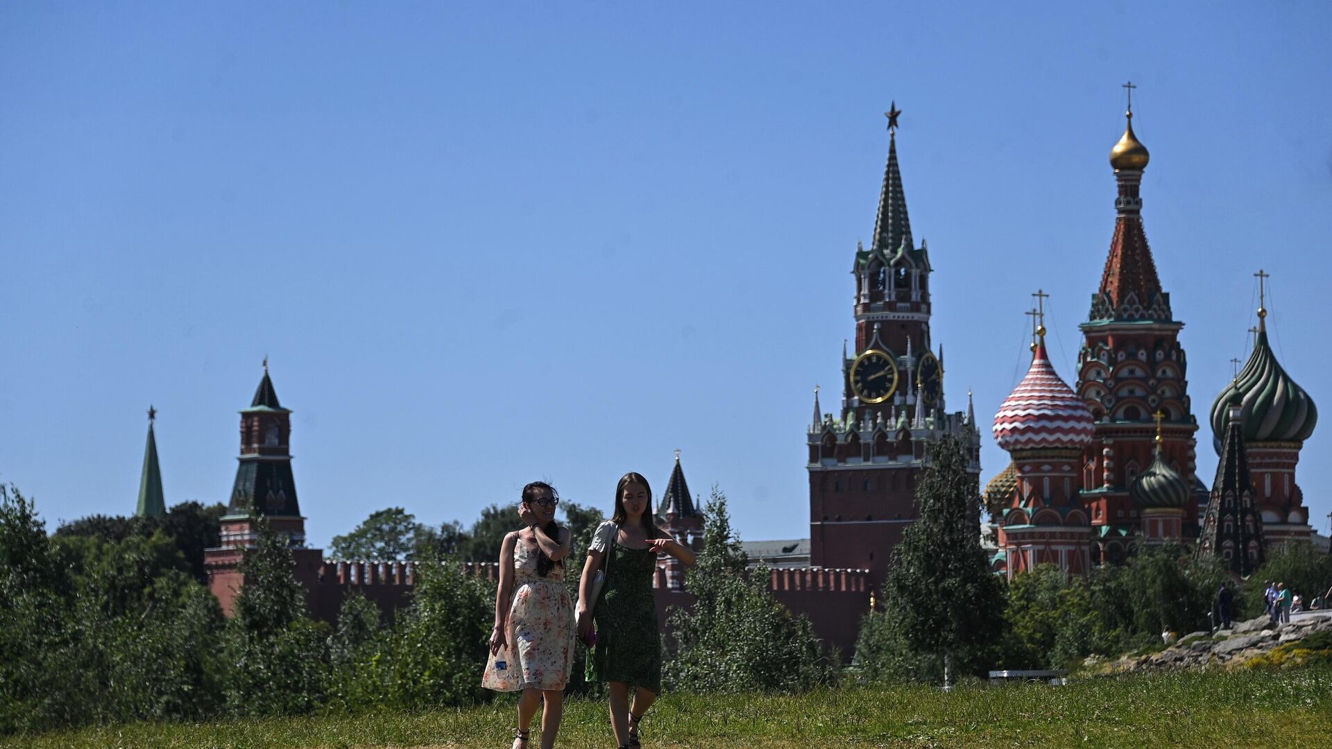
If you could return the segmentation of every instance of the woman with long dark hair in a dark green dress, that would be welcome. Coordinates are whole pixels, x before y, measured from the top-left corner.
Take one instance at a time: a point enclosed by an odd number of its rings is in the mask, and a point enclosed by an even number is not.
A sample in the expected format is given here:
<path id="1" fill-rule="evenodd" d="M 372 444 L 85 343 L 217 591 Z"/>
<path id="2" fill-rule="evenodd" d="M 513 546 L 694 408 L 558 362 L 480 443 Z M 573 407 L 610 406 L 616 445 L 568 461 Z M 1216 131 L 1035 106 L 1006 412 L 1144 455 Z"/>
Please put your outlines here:
<path id="1" fill-rule="evenodd" d="M 653 493 L 639 473 L 626 473 L 615 486 L 615 512 L 602 522 L 587 548 L 578 582 L 578 637 L 586 642 L 597 624 L 587 658 L 587 681 L 605 681 L 610 692 L 610 726 L 621 749 L 638 746 L 638 721 L 662 685 L 661 632 L 653 598 L 657 557 L 670 554 L 694 564 L 694 552 L 653 521 Z M 606 582 L 587 616 L 591 581 L 605 561 Z M 634 689 L 633 704 L 629 690 Z"/>

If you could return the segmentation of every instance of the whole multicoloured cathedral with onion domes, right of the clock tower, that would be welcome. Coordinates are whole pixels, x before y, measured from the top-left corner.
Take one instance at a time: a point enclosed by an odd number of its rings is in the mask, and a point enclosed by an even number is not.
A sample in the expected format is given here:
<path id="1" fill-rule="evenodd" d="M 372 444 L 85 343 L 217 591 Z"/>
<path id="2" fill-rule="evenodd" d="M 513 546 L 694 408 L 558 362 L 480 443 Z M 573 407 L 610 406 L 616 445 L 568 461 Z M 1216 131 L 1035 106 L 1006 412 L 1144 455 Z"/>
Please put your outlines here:
<path id="1" fill-rule="evenodd" d="M 1044 327 L 1031 369 L 994 418 L 1012 462 L 986 486 L 1010 578 L 1038 564 L 1082 574 L 1118 564 L 1138 544 L 1184 544 L 1247 576 L 1271 544 L 1312 541 L 1295 480 L 1317 422 L 1309 396 L 1276 361 L 1260 293 L 1253 349 L 1221 389 L 1208 422 L 1220 462 L 1211 490 L 1196 476 L 1197 418 L 1188 396 L 1184 327 L 1173 319 L 1143 229 L 1139 195 L 1150 155 L 1132 127 L 1111 149 L 1115 232 L 1087 321 L 1078 380 L 1054 371 Z M 1260 292 L 1267 273 L 1259 271 Z M 1043 292 L 1036 295 L 1043 317 Z"/>

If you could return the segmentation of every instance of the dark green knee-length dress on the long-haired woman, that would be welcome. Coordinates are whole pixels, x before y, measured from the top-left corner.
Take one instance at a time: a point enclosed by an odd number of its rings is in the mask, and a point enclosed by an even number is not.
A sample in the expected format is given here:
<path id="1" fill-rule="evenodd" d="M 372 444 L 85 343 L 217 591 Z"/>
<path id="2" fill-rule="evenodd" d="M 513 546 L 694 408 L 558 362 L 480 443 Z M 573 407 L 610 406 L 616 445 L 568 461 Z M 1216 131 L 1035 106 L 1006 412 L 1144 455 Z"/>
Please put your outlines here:
<path id="1" fill-rule="evenodd" d="M 623 681 L 630 688 L 662 690 L 662 646 L 657 630 L 653 572 L 657 553 L 611 542 L 610 569 L 593 612 L 597 645 L 587 657 L 587 681 Z"/>

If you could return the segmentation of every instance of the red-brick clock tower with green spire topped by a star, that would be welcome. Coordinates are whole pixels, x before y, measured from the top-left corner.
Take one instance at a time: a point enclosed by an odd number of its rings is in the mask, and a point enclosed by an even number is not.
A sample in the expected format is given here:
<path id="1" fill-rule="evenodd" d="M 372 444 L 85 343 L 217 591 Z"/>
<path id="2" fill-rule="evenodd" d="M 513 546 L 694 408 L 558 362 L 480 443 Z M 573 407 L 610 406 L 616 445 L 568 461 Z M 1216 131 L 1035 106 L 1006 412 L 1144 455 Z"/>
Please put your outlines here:
<path id="1" fill-rule="evenodd" d="M 911 236 L 898 168 L 896 105 L 887 112 L 888 160 L 870 248 L 856 247 L 855 352 L 842 353 L 842 401 L 807 428 L 810 562 L 870 569 L 883 580 L 902 529 L 916 516 L 914 489 L 926 448 L 964 434 L 971 472 L 980 472 L 980 437 L 963 412 L 947 413 L 943 348 L 931 352 L 930 253 Z M 979 520 L 978 520 L 979 522 Z"/>

